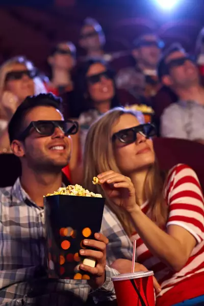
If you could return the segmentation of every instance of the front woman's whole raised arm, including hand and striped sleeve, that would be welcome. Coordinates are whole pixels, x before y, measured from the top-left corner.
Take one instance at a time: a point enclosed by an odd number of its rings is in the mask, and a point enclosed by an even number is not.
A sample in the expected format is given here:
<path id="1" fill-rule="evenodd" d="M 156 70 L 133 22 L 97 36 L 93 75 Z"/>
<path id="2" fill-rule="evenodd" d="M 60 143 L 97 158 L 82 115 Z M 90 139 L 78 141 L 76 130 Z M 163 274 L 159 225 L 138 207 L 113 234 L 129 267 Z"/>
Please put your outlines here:
<path id="1" fill-rule="evenodd" d="M 173 270 L 180 271 L 196 241 L 199 243 L 204 237 L 204 206 L 197 176 L 191 168 L 176 166 L 171 175 L 171 190 L 167 194 L 167 232 L 141 211 L 128 177 L 109 171 L 101 173 L 98 178 L 107 197 L 129 212 L 138 235 L 150 252 Z"/>

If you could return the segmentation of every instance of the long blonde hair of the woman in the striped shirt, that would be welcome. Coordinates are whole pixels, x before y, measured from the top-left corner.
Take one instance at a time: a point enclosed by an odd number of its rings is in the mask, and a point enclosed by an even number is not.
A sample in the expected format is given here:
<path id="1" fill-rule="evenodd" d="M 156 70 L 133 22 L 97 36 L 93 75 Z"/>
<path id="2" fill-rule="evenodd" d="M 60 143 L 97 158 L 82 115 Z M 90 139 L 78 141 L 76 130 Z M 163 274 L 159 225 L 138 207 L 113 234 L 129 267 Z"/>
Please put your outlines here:
<path id="1" fill-rule="evenodd" d="M 92 185 L 92 177 L 109 170 L 121 173 L 114 158 L 111 131 L 114 123 L 124 114 L 131 114 L 137 118 L 140 115 L 139 112 L 122 108 L 112 109 L 94 122 L 87 134 L 84 154 L 84 186 L 95 193 L 101 193 L 103 196 L 105 195 L 100 185 Z M 147 172 L 143 193 L 150 203 L 148 216 L 159 226 L 164 225 L 167 219 L 163 186 L 164 177 L 155 162 Z M 116 214 L 127 235 L 131 236 L 135 232 L 135 228 L 130 221 L 130 216 L 110 201 L 107 201 L 107 205 Z"/>

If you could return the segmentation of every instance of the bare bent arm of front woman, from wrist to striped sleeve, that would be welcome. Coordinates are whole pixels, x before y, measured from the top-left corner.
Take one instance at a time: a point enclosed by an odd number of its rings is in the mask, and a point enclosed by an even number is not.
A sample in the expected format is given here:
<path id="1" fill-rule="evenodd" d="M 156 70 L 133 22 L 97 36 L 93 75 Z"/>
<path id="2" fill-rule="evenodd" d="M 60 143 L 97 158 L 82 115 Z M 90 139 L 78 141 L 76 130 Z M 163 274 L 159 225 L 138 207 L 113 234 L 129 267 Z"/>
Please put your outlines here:
<path id="1" fill-rule="evenodd" d="M 149 251 L 174 271 L 180 271 L 196 244 L 194 236 L 178 225 L 169 225 L 165 233 L 140 209 L 133 211 L 131 218 Z"/>

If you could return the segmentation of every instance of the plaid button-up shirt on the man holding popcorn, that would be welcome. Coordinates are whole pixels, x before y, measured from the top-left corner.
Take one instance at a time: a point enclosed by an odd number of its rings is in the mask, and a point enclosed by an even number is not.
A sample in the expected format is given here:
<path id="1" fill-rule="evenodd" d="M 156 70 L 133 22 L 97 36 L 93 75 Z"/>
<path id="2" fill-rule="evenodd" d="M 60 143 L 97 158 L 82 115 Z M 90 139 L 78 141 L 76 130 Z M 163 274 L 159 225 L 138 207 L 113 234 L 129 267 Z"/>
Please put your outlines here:
<path id="1" fill-rule="evenodd" d="M 87 281 L 49 279 L 46 276 L 44 212 L 29 198 L 18 179 L 13 187 L 0 189 L 0 304 L 81 305 L 91 288 Z M 118 258 L 132 259 L 132 243 L 116 216 L 106 207 L 101 232 L 110 241 L 107 264 Z M 92 291 L 95 301 L 115 298 L 106 267 L 106 282 Z"/>

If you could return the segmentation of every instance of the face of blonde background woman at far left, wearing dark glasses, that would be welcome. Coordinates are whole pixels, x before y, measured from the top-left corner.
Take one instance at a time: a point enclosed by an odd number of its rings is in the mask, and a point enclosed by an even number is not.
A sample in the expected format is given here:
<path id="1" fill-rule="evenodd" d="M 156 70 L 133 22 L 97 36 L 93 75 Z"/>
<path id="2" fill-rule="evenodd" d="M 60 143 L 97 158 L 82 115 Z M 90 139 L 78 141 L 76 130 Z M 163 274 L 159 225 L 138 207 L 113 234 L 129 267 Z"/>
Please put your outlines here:
<path id="1" fill-rule="evenodd" d="M 19 72 L 22 73 L 19 73 Z M 25 72 L 23 74 L 23 71 Z M 23 101 L 27 96 L 34 95 L 35 93 L 35 84 L 34 81 L 29 75 L 26 74 L 28 68 L 23 64 L 13 64 L 12 69 L 8 72 L 14 72 L 13 76 L 11 75 L 8 78 L 8 81 L 5 82 L 5 90 L 12 92 L 17 96 L 19 101 Z M 18 72 L 15 75 L 15 72 Z"/>

